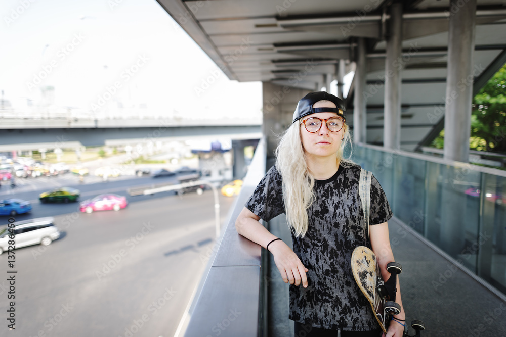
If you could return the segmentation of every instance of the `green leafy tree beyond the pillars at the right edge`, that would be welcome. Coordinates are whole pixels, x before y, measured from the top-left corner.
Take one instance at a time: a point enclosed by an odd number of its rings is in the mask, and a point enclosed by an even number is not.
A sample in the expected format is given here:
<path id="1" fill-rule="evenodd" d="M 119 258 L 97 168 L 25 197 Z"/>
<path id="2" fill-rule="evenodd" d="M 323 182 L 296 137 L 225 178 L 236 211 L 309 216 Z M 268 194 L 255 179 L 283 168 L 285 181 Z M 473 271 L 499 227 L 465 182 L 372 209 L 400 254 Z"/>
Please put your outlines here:
<path id="1" fill-rule="evenodd" d="M 472 150 L 506 153 L 506 64 L 473 98 L 471 115 Z M 443 148 L 444 130 L 432 145 Z"/>

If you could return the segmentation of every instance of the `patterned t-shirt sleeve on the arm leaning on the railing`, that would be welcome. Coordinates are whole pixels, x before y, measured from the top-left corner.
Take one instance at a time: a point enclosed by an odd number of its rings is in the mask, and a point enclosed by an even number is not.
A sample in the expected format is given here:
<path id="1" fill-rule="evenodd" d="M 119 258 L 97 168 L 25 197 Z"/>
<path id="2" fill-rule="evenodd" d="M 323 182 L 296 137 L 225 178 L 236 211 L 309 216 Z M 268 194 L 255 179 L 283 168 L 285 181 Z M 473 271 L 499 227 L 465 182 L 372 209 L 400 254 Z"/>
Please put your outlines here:
<path id="1" fill-rule="evenodd" d="M 264 221 L 284 213 L 282 179 L 275 166 L 267 171 L 244 206 Z"/>

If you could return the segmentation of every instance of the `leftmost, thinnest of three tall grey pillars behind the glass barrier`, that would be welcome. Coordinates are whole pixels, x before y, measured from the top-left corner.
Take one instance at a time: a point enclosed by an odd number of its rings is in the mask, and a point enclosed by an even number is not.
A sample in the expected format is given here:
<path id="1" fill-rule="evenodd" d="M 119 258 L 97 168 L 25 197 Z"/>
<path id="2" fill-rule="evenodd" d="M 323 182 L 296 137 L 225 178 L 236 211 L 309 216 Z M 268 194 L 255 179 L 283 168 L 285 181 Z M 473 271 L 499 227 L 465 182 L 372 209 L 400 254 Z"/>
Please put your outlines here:
<path id="1" fill-rule="evenodd" d="M 353 142 L 365 143 L 366 137 L 366 102 L 365 92 L 365 38 L 359 37 L 357 41 L 357 69 L 355 70 L 355 96 L 353 100 Z"/>

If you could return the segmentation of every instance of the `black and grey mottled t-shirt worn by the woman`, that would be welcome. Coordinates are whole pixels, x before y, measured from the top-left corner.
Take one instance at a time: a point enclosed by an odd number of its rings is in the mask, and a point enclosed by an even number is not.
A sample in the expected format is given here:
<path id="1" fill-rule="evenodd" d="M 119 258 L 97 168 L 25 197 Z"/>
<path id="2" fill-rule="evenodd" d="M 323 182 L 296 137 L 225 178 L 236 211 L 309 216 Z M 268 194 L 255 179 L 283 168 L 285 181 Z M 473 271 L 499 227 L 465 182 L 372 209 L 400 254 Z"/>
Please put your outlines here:
<path id="1" fill-rule="evenodd" d="M 316 180 L 316 200 L 308 209 L 304 237 L 292 233 L 293 251 L 309 269 L 308 287 L 290 285 L 291 320 L 315 327 L 345 331 L 379 328 L 371 306 L 351 273 L 351 254 L 369 246 L 358 194 L 360 166 L 340 166 L 327 180 Z M 275 166 L 266 173 L 245 205 L 262 220 L 284 213 L 282 178 Z M 371 182 L 370 225 L 392 218 L 385 192 Z"/>

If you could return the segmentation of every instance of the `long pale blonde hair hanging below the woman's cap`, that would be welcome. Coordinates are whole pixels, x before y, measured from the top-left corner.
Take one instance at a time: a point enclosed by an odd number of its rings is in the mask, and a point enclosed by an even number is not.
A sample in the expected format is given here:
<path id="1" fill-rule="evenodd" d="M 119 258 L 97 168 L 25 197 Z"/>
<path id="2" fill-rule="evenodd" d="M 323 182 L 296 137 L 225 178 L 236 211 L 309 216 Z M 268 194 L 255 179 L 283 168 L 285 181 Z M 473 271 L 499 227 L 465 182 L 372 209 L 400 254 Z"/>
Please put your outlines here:
<path id="1" fill-rule="evenodd" d="M 348 143 L 352 147 L 352 141 L 346 123 L 343 129 L 344 139 L 335 153 L 335 159 L 339 165 L 347 167 L 354 163 L 351 159 L 343 157 L 343 149 Z M 308 170 L 300 130 L 300 123 L 298 121 L 293 123 L 282 135 L 275 155 L 276 168 L 283 179 L 286 221 L 296 236 L 304 237 L 309 223 L 307 209 L 315 201 L 313 192 L 315 179 Z"/>

